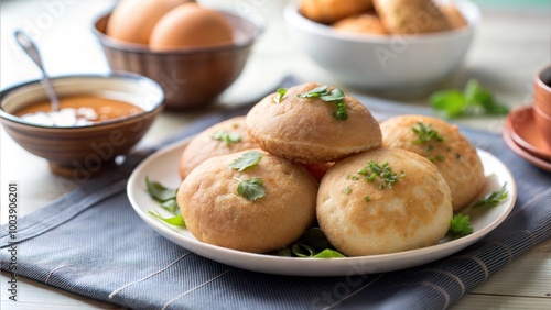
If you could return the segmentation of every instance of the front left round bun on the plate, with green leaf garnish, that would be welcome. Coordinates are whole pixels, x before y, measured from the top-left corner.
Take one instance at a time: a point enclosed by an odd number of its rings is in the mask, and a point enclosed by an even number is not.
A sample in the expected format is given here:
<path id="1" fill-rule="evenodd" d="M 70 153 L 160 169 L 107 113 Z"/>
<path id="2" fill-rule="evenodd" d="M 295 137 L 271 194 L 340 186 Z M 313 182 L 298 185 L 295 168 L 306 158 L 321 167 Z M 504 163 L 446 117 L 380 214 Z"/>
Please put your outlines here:
<path id="1" fill-rule="evenodd" d="M 242 170 L 233 166 L 259 154 L 259 162 Z M 197 240 L 266 253 L 314 224 L 316 193 L 316 180 L 302 166 L 255 150 L 205 160 L 184 179 L 176 199 Z"/>

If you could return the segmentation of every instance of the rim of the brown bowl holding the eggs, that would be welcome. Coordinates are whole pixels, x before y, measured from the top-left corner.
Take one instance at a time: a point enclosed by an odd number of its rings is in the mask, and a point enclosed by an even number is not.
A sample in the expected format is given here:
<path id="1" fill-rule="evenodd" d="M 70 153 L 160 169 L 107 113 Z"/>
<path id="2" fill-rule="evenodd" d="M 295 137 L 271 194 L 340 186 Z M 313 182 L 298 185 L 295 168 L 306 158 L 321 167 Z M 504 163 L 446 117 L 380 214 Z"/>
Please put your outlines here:
<path id="1" fill-rule="evenodd" d="M 112 13 L 112 10 L 115 8 L 111 8 L 104 13 L 99 14 L 96 16 L 91 23 L 91 32 L 99 40 L 101 45 L 118 49 L 118 51 L 123 51 L 123 52 L 131 52 L 136 54 L 147 54 L 147 55 L 194 55 L 197 53 L 220 53 L 220 52 L 226 52 L 226 51 L 235 51 L 235 49 L 240 49 L 247 46 L 251 46 L 255 41 L 258 40 L 258 37 L 264 32 L 266 25 L 263 20 L 257 15 L 257 14 L 248 14 L 247 16 L 237 12 L 231 12 L 227 10 L 216 10 L 219 13 L 223 13 L 225 15 L 230 15 L 233 18 L 238 18 L 241 21 L 248 21 L 252 25 L 255 25 L 255 32 L 252 35 L 242 41 L 242 42 L 233 42 L 231 44 L 219 44 L 219 45 L 212 45 L 212 46 L 198 46 L 198 47 L 182 47 L 182 48 L 174 48 L 170 51 L 151 51 L 148 48 L 148 45 L 144 44 L 137 44 L 137 43 L 129 43 L 129 42 L 122 42 L 116 38 L 111 38 L 104 32 L 99 31 L 97 25 L 100 20 L 102 19 L 109 19 L 110 14 Z M 213 9 L 214 10 L 214 9 Z"/>

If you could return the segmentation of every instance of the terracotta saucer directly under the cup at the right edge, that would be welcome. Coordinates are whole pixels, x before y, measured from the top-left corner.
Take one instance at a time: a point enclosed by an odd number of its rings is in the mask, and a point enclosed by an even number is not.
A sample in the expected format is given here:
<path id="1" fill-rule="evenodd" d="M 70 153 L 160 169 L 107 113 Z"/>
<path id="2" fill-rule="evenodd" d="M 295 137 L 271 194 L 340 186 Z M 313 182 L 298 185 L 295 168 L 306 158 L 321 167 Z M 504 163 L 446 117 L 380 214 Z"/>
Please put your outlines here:
<path id="1" fill-rule="evenodd" d="M 551 145 L 536 125 L 532 107 L 514 109 L 505 120 L 505 126 L 516 144 L 541 159 L 551 159 Z"/>

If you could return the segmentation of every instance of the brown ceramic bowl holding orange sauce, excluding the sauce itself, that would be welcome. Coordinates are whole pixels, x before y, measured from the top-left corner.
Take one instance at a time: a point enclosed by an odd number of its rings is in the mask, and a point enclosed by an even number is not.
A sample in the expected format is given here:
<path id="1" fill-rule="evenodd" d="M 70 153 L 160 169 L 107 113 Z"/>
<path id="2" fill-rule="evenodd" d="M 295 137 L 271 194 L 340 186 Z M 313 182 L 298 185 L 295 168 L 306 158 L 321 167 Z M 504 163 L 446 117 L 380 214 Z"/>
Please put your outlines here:
<path id="1" fill-rule="evenodd" d="M 0 120 L 6 132 L 30 153 L 47 159 L 53 173 L 83 181 L 110 167 L 149 130 L 163 108 L 163 90 L 155 81 L 134 74 L 78 75 L 52 79 L 58 97 L 99 96 L 118 99 L 143 110 L 128 118 L 80 126 L 30 123 L 12 113 L 47 100 L 39 80 L 3 90 Z"/>

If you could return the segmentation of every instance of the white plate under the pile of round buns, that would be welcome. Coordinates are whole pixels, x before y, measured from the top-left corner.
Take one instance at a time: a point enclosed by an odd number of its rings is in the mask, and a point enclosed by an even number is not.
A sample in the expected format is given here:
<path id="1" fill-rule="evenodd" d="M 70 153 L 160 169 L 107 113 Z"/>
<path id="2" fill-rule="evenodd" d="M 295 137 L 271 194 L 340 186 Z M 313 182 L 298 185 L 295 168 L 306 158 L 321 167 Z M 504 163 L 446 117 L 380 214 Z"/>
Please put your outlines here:
<path id="1" fill-rule="evenodd" d="M 497 157 L 478 148 L 477 152 L 483 160 L 485 169 L 493 167 L 491 171 L 498 171 L 497 176 L 500 178 L 499 184 L 503 184 L 504 181 L 507 184 L 506 187 L 509 191 L 509 197 L 499 206 L 494 207 L 494 209 L 499 211 L 498 217 L 493 219 L 489 224 L 479 230 L 475 230 L 475 232 L 471 235 L 423 248 L 391 254 L 345 258 L 298 258 L 247 253 L 206 244 L 183 235 L 176 229 L 171 228 L 169 224 L 163 223 L 158 219 L 154 219 L 148 213 L 149 210 L 159 211 L 161 208 L 155 208 L 159 206 L 159 202 L 151 199 L 150 202 L 142 203 L 137 197 L 138 191 L 147 191 L 144 176 L 151 171 L 154 165 L 159 162 L 162 163 L 163 158 L 170 157 L 170 155 L 180 155 L 187 142 L 188 140 L 184 140 L 169 145 L 165 148 L 148 156 L 134 168 L 127 184 L 127 195 L 130 204 L 147 224 L 173 243 L 206 258 L 252 272 L 288 276 L 352 276 L 359 274 L 392 272 L 431 263 L 445 256 L 450 256 L 472 245 L 491 232 L 507 218 L 517 199 L 517 186 L 509 169 Z M 166 160 L 164 160 L 164 163 L 166 163 Z M 174 164 L 173 170 L 174 174 L 177 175 L 177 162 Z M 163 182 L 162 179 L 154 180 Z"/>

